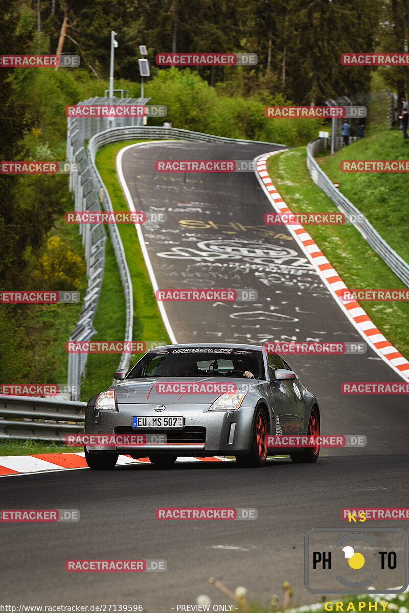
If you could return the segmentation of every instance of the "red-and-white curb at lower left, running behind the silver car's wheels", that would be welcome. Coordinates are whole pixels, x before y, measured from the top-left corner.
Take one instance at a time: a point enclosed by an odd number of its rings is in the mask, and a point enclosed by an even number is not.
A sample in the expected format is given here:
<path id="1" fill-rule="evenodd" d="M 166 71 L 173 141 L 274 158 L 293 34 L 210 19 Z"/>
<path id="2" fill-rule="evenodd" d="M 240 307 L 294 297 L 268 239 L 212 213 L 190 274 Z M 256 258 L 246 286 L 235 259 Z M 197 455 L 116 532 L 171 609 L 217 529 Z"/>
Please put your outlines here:
<path id="1" fill-rule="evenodd" d="M 224 457 L 178 457 L 176 462 L 233 462 Z M 148 458 L 134 460 L 129 455 L 120 455 L 117 466 L 123 464 L 149 463 Z M 44 473 L 51 470 L 72 470 L 74 468 L 88 468 L 85 453 L 78 451 L 69 454 L 34 454 L 34 455 L 1 455 L 0 477 L 13 474 Z"/>

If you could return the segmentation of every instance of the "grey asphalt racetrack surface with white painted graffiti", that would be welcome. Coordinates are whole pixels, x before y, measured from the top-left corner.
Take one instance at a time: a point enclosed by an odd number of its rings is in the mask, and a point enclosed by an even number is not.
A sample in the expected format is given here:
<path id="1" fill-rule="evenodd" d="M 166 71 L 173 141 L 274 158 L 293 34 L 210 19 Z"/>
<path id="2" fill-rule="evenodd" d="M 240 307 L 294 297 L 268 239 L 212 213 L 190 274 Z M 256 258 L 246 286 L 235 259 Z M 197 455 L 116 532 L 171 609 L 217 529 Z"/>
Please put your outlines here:
<path id="1" fill-rule="evenodd" d="M 178 342 L 361 341 L 285 226 L 264 226 L 270 205 L 253 173 L 156 173 L 156 159 L 253 159 L 265 145 L 172 142 L 129 148 L 123 171 L 137 210 L 163 211 L 163 227 L 142 227 L 162 288 L 256 289 L 256 303 L 166 303 Z M 233 224 L 233 225 L 232 225 Z M 190 226 L 190 227 L 189 227 Z M 269 603 L 289 581 L 292 602 L 317 602 L 304 587 L 304 535 L 348 528 L 342 508 L 402 507 L 407 500 L 407 401 L 345 396 L 343 381 L 402 381 L 369 348 L 362 355 L 284 356 L 316 395 L 321 431 L 363 434 L 367 446 L 323 449 L 315 464 L 271 459 L 263 469 L 235 462 L 186 462 L 171 470 L 118 466 L 1 480 L 1 508 L 79 509 L 75 523 L 1 524 L 2 600 L 10 604 L 142 604 L 167 613 L 195 604 L 233 604 L 215 577 L 248 600 Z M 161 507 L 258 509 L 248 521 L 159 521 Z M 354 524 L 399 527 L 405 521 Z M 383 546 L 394 544 L 387 536 Z M 324 535 L 321 549 L 333 549 Z M 67 559 L 167 560 L 163 573 L 69 573 Z M 362 577 L 364 578 L 364 577 Z M 399 585 L 391 574 L 382 588 Z M 334 598 L 334 596 L 330 596 Z M 180 610 L 180 609 L 179 609 Z M 227 609 L 228 610 L 228 609 Z M 234 609 L 233 609 L 234 610 Z"/>

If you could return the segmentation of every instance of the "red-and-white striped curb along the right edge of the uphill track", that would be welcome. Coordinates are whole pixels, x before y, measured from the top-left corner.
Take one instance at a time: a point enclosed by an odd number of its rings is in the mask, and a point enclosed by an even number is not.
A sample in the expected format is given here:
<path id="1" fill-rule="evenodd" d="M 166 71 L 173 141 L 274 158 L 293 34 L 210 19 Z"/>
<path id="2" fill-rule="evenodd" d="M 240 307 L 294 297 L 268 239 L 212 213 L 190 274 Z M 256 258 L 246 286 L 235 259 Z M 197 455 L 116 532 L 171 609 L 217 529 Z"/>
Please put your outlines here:
<path id="1" fill-rule="evenodd" d="M 284 200 L 281 198 L 277 189 L 273 185 L 272 178 L 267 172 L 267 159 L 280 151 L 262 154 L 256 161 L 256 177 L 259 180 L 262 189 L 270 200 L 273 209 L 278 213 L 291 212 Z M 308 259 L 315 266 L 316 271 L 328 287 L 332 297 L 337 302 L 338 307 L 342 309 L 351 324 L 361 334 L 362 338 L 368 343 L 370 348 L 381 357 L 398 375 L 405 381 L 409 381 L 409 362 L 397 351 L 397 349 L 389 343 L 389 341 L 378 330 L 373 321 L 369 318 L 364 309 L 359 306 L 356 300 L 344 303 L 340 299 L 341 292 L 348 289 L 337 271 L 324 256 L 318 245 L 313 241 L 312 237 L 305 231 L 301 224 L 291 224 L 288 226 L 292 236 L 299 244 L 300 248 L 307 255 Z"/>

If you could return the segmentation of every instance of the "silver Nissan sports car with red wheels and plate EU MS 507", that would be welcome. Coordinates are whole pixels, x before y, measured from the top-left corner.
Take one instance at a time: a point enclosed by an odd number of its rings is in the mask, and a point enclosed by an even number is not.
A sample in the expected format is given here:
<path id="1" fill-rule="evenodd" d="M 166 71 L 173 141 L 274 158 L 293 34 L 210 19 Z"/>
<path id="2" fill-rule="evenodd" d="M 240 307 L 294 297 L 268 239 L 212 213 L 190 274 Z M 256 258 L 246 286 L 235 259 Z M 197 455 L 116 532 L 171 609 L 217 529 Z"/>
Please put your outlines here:
<path id="1" fill-rule="evenodd" d="M 167 345 L 148 351 L 90 399 L 85 433 L 114 435 L 114 446 L 86 446 L 90 468 L 109 470 L 118 455 L 162 467 L 178 456 L 234 455 L 264 466 L 267 455 L 315 462 L 319 445 L 271 447 L 267 435 L 318 435 L 316 398 L 278 354 L 252 345 Z M 145 444 L 129 446 L 145 435 Z M 141 437 L 142 438 L 142 437 Z M 127 442 L 128 441 L 128 442 Z"/>

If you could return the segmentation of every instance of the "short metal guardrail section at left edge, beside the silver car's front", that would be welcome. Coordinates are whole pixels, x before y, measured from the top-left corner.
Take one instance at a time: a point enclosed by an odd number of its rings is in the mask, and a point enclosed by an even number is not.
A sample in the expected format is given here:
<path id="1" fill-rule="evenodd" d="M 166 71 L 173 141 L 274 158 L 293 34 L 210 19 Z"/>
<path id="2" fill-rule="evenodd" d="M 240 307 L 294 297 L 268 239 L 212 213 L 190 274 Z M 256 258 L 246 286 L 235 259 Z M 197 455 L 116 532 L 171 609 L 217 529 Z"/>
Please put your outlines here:
<path id="1" fill-rule="evenodd" d="M 0 397 L 0 440 L 64 443 L 71 432 L 83 432 L 85 402 L 24 396 Z"/>

